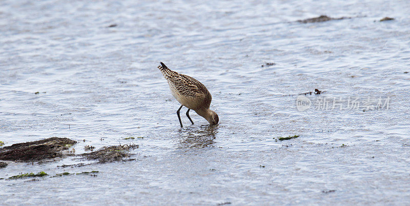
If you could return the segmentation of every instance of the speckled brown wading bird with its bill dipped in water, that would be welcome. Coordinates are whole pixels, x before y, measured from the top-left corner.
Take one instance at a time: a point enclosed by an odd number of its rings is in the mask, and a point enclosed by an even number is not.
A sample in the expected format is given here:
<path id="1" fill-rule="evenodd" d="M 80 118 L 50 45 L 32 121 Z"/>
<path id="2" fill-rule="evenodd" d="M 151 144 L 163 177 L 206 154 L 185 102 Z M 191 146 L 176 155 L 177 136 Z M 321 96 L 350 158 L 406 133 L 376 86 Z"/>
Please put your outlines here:
<path id="1" fill-rule="evenodd" d="M 172 96 L 174 96 L 181 104 L 181 107 L 179 107 L 176 111 L 181 127 L 182 121 L 179 116 L 179 111 L 182 106 L 188 108 L 187 117 L 191 121 L 192 125 L 194 122 L 189 116 L 190 110 L 194 110 L 199 116 L 205 118 L 211 125 L 216 125 L 218 123 L 218 115 L 209 109 L 212 100 L 211 93 L 209 93 L 208 89 L 202 85 L 202 83 L 190 76 L 179 74 L 178 72 L 168 69 L 168 67 L 162 62 L 161 65 L 158 66 L 158 69 L 161 70 L 162 75 L 167 79 Z"/>

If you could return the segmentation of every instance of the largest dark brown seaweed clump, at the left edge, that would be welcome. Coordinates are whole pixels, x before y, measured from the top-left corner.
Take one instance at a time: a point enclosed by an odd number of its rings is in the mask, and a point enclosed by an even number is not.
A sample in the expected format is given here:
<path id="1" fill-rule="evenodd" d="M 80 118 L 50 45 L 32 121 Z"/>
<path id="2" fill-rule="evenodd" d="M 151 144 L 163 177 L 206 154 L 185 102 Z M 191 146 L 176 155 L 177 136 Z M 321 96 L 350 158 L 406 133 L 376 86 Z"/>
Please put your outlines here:
<path id="1" fill-rule="evenodd" d="M 77 143 L 69 138 L 51 137 L 38 141 L 16 143 L 0 148 L 0 160 L 38 161 L 42 159 L 64 157 L 63 150 L 68 150 Z"/>

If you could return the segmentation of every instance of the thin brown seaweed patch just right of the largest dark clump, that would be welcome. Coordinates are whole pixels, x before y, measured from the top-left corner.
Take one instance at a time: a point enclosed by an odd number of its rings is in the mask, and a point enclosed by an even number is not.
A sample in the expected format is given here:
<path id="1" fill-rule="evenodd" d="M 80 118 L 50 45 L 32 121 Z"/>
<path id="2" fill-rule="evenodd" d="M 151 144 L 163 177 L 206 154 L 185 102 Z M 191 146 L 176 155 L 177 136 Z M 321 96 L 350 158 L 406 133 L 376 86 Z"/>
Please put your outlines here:
<path id="1" fill-rule="evenodd" d="M 95 152 L 81 154 L 88 160 L 98 160 L 100 163 L 120 161 L 125 157 L 129 157 L 129 150 L 136 149 L 138 145 L 119 145 L 111 147 L 103 147 Z"/>

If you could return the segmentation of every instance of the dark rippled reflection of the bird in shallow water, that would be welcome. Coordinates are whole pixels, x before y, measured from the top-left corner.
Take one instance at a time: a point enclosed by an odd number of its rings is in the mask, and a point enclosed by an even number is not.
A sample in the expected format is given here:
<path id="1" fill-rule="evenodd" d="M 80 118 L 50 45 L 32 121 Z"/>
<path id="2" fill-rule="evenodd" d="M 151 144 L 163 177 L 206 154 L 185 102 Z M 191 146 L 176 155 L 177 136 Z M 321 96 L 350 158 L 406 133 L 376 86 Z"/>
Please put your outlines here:
<path id="1" fill-rule="evenodd" d="M 218 133 L 217 125 L 203 125 L 179 131 L 178 148 L 207 148 L 213 147 L 215 135 Z"/>

